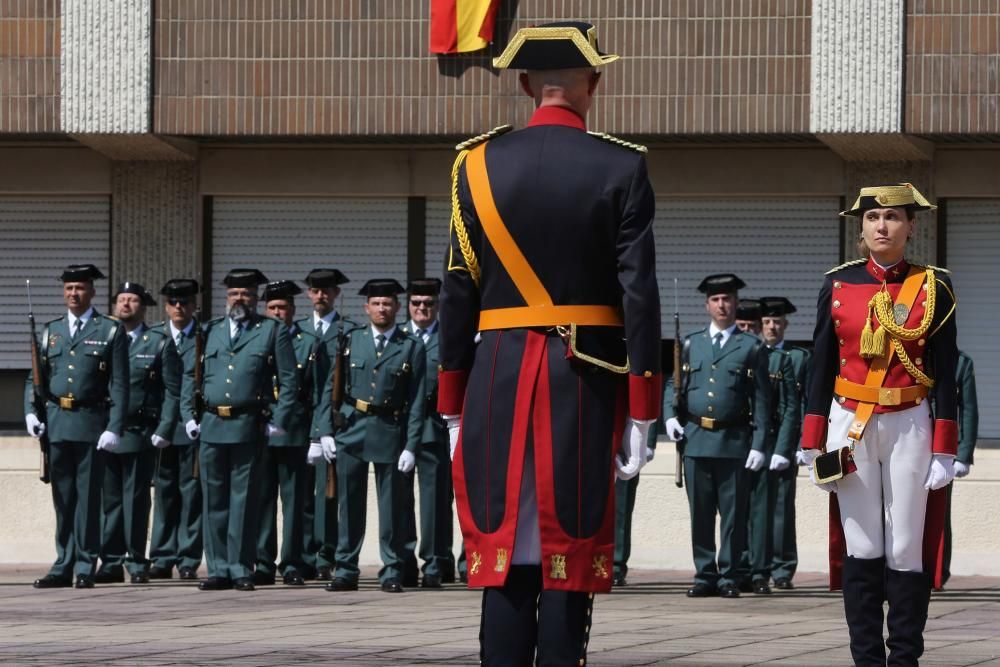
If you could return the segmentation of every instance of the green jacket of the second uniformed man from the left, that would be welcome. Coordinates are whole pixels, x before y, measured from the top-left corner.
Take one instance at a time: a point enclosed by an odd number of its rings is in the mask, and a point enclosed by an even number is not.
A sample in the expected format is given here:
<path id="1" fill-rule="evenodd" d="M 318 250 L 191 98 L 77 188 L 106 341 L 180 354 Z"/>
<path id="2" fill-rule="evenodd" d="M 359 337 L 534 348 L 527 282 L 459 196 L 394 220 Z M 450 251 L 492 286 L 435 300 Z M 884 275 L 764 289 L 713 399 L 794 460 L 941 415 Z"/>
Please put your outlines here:
<path id="1" fill-rule="evenodd" d="M 128 341 L 128 334 L 125 335 Z M 135 454 L 152 447 L 153 433 L 170 440 L 180 410 L 181 360 L 163 329 L 147 329 L 128 346 L 129 397 L 125 433 L 115 454 Z"/>

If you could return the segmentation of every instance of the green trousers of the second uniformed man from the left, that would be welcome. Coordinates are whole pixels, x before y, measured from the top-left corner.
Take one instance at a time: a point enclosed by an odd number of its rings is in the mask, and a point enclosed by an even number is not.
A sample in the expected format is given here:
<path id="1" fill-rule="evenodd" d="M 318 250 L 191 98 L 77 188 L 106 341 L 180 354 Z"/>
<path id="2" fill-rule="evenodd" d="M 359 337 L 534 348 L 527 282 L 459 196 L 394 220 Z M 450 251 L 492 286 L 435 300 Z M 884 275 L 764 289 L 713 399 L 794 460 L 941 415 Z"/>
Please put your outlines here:
<path id="1" fill-rule="evenodd" d="M 153 449 L 104 457 L 104 491 L 101 506 L 100 572 L 129 574 L 149 570 L 146 536 L 149 534 L 149 485 L 156 461 Z"/>

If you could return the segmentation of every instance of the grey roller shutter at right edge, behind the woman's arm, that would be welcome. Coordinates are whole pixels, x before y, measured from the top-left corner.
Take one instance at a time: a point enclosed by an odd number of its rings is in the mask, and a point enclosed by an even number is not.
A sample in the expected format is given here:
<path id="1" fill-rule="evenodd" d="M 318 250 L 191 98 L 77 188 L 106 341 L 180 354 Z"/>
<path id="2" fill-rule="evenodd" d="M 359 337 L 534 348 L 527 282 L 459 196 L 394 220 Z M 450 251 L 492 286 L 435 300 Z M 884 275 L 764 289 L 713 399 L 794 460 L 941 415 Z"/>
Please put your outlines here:
<path id="1" fill-rule="evenodd" d="M 949 199 L 947 215 L 948 268 L 958 299 L 958 347 L 975 363 L 979 437 L 1000 438 L 995 277 L 1000 257 L 1000 199 Z"/>

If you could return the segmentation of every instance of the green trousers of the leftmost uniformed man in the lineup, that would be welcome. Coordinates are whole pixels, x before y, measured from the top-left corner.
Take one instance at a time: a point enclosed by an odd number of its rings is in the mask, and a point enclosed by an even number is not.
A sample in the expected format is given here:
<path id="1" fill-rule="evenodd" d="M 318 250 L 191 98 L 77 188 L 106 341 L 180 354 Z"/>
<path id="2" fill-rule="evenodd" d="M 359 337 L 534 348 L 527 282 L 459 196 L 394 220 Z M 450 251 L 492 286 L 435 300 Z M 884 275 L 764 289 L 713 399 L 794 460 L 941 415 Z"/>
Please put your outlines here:
<path id="1" fill-rule="evenodd" d="M 56 560 L 49 574 L 62 579 L 93 575 L 101 549 L 104 461 L 94 442 L 53 442 L 49 448 Z"/>

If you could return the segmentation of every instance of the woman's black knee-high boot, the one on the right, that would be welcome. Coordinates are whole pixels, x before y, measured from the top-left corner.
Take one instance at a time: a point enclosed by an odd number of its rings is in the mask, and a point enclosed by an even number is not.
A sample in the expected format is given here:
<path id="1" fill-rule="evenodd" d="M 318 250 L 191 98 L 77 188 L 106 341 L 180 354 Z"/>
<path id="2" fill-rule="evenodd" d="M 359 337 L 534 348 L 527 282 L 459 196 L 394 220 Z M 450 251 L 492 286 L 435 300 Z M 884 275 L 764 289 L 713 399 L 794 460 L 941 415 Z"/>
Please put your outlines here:
<path id="1" fill-rule="evenodd" d="M 923 572 L 886 570 L 889 597 L 890 665 L 916 666 L 924 653 L 924 625 L 931 600 L 931 578 Z"/>

